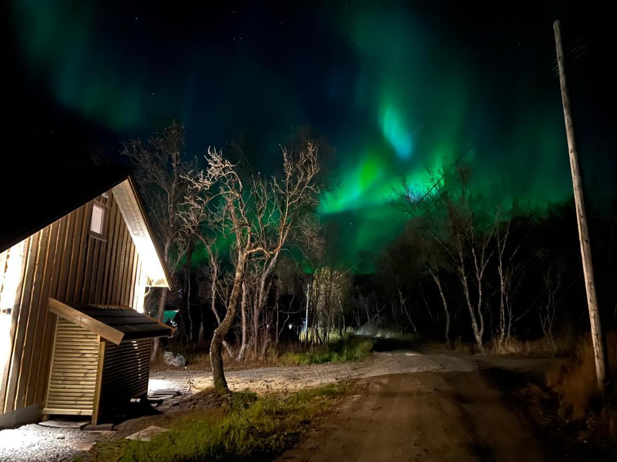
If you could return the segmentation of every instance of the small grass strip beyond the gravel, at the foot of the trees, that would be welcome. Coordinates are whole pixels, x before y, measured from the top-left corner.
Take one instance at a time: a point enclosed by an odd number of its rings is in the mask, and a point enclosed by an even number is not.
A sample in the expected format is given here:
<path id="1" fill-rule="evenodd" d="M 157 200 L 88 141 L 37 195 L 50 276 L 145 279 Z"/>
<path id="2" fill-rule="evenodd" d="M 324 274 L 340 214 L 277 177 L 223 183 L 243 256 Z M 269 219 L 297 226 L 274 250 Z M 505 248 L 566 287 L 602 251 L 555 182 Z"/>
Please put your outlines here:
<path id="1" fill-rule="evenodd" d="M 363 359 L 371 354 L 373 342 L 357 337 L 342 338 L 324 349 L 302 353 L 285 353 L 279 361 L 283 365 L 323 364 Z"/>

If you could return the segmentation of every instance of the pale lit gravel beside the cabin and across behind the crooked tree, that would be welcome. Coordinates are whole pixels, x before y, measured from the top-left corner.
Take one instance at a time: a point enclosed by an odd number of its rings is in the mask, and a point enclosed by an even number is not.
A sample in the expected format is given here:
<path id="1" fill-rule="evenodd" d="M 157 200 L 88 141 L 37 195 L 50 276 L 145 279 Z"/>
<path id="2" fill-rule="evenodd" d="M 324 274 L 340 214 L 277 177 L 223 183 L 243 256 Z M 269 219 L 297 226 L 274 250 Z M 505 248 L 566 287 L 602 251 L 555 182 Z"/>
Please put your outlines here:
<path id="1" fill-rule="evenodd" d="M 345 379 L 422 371 L 471 371 L 475 368 L 474 361 L 464 357 L 440 353 L 420 354 L 405 350 L 376 352 L 357 362 L 230 371 L 226 373 L 226 378 L 234 391 L 295 391 Z M 179 388 L 194 393 L 210 386 L 210 371 L 168 370 L 152 372 L 149 389 Z M 143 421 L 145 426 L 150 424 L 147 418 Z M 122 425 L 130 423 L 131 421 Z M 17 429 L 0 431 L 0 461 L 70 461 L 78 452 L 88 450 L 94 442 L 111 439 L 115 435 L 115 432 L 87 432 L 46 428 L 37 424 L 24 425 Z"/>

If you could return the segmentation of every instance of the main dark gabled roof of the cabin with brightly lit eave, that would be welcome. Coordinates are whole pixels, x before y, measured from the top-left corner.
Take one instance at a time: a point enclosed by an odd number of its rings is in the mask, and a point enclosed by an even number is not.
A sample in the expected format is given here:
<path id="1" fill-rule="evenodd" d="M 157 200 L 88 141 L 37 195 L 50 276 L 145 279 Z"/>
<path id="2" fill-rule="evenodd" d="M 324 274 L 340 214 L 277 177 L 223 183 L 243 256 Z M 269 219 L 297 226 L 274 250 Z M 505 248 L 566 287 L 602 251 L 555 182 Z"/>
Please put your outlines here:
<path id="1" fill-rule="evenodd" d="M 0 182 L 0 253 L 75 209 L 113 190 L 139 253 L 157 275 L 148 285 L 169 287 L 170 275 L 154 242 L 130 169 L 116 166 L 45 166 L 3 172 Z"/>

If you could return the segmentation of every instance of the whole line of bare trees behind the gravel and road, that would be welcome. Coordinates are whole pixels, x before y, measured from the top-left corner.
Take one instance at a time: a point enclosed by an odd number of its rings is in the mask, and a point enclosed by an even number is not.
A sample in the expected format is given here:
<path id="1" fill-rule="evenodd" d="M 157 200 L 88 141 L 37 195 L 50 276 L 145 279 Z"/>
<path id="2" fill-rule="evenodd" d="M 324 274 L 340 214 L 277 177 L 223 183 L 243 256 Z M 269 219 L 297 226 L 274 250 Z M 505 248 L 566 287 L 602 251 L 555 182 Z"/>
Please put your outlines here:
<path id="1" fill-rule="evenodd" d="M 255 170 L 242 142 L 190 159 L 179 123 L 123 146 L 174 278 L 147 307 L 160 319 L 166 306 L 180 309 L 176 340 L 209 349 L 215 386 L 227 387 L 223 351 L 263 357 L 281 342 L 325 344 L 350 330 L 460 339 L 480 352 L 540 337 L 557 349 L 558 333 L 584 330 L 571 205 L 491 197 L 464 164 L 427 172 L 428 193 L 402 179 L 391 204 L 404 230 L 362 274 L 337 259 L 341 237 L 317 214 L 331 152 L 302 129 L 268 172 Z M 616 210 L 613 200 L 590 214 L 608 325 L 617 320 Z"/>

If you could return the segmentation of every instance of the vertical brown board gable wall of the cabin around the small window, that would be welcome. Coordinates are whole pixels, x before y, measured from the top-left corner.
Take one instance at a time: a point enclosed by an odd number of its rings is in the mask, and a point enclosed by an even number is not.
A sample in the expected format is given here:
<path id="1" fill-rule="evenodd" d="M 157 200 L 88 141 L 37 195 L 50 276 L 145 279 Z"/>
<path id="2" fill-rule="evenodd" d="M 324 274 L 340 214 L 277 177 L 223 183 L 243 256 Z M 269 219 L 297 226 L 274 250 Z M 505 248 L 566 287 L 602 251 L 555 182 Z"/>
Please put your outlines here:
<path id="1" fill-rule="evenodd" d="M 92 203 L 24 241 L 21 289 L 12 312 L 10 360 L 0 383 L 0 413 L 44 402 L 56 322 L 56 316 L 48 312 L 50 296 L 67 303 L 142 308 L 135 305 L 143 303 L 141 261 L 112 193 L 107 195 L 97 198 L 108 207 L 106 241 L 89 235 Z"/>

